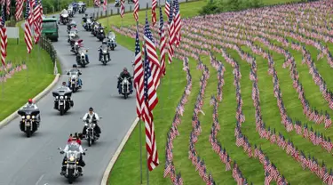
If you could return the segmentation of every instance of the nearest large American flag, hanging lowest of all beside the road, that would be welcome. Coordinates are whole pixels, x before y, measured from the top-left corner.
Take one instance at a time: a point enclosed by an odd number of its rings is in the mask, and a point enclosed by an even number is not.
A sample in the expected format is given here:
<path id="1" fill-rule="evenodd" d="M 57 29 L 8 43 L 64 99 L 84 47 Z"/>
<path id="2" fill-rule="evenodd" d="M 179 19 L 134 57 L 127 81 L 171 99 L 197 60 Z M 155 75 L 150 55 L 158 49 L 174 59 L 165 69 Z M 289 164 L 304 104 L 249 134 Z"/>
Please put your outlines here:
<path id="1" fill-rule="evenodd" d="M 146 21 L 147 17 L 146 17 Z M 149 25 L 148 27 L 149 28 Z M 145 35 L 147 31 L 145 31 Z M 149 171 L 155 169 L 159 165 L 157 146 L 155 139 L 155 127 L 154 127 L 154 116 L 153 109 L 158 101 L 155 92 L 155 85 L 153 82 L 153 77 L 151 74 L 151 69 L 149 67 L 149 57 L 147 53 L 147 47 L 145 48 L 145 75 L 144 75 L 144 105 L 143 105 L 143 117 L 146 125 L 146 149 L 147 149 L 147 165 Z"/>

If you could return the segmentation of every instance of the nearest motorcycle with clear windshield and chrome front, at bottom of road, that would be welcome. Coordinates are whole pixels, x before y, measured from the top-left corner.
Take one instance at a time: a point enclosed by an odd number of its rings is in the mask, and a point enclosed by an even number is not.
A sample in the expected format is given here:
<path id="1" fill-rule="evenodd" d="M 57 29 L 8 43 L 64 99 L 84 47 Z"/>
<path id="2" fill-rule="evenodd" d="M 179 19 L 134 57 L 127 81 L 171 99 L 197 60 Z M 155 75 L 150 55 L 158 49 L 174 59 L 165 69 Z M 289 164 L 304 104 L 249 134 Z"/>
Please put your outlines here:
<path id="1" fill-rule="evenodd" d="M 76 141 L 72 141 L 67 144 L 68 150 L 66 151 L 65 161 L 64 164 L 62 164 L 62 167 L 66 169 L 66 173 L 63 173 L 65 178 L 67 178 L 67 181 L 69 184 L 72 184 L 75 179 L 83 175 L 82 166 L 80 163 L 80 159 L 82 158 L 81 155 L 85 155 L 85 151 L 88 149 L 83 149 L 83 153 L 80 152 L 80 145 L 77 144 Z M 65 154 L 65 151 L 61 148 L 58 148 L 60 150 L 60 154 Z"/>

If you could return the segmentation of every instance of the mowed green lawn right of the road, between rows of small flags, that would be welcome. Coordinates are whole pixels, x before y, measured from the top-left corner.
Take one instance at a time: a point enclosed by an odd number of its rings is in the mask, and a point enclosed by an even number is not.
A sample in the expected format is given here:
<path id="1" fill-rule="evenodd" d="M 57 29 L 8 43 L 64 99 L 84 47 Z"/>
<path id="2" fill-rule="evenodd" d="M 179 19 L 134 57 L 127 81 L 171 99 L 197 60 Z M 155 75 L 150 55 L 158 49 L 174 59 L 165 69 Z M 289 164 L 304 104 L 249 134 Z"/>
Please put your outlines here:
<path id="1" fill-rule="evenodd" d="M 271 4 L 279 3 L 277 1 L 270 1 Z M 285 3 L 286 1 L 281 1 Z M 202 4 L 202 2 L 194 2 L 181 4 L 180 10 L 183 17 L 192 17 L 196 13 L 187 9 L 192 5 Z M 199 6 L 199 5 L 198 5 Z M 199 10 L 200 8 L 198 8 Z M 189 12 L 185 14 L 184 12 Z M 144 22 L 146 12 L 140 12 L 140 23 Z M 127 16 L 128 15 L 128 16 Z M 150 12 L 148 11 L 148 17 Z M 113 20 L 113 21 L 111 21 Z M 165 20 L 165 17 L 164 17 Z M 102 20 L 105 23 L 107 20 Z M 121 26 L 121 19 L 119 16 L 114 16 L 108 20 L 113 25 Z M 150 17 L 149 17 L 150 21 Z M 123 20 L 123 26 L 135 24 L 131 13 L 127 13 Z M 212 39 L 212 38 L 210 38 Z M 293 40 L 289 38 L 289 40 Z M 127 36 L 117 35 L 117 42 L 131 51 L 134 51 L 134 39 Z M 280 43 L 274 42 L 274 44 L 281 46 Z M 269 50 L 264 44 L 255 42 L 264 50 Z M 333 51 L 333 44 L 328 44 L 329 51 Z M 331 69 L 327 64 L 326 57 L 322 60 L 316 60 L 317 50 L 313 46 L 307 45 L 306 48 L 311 52 L 312 58 L 316 63 L 316 68 L 321 73 L 321 76 L 325 79 L 330 90 L 333 89 L 333 79 L 330 77 Z M 333 111 L 327 106 L 327 102 L 321 97 L 319 88 L 313 83 L 312 76 L 308 74 L 308 68 L 306 65 L 302 65 L 302 53 L 296 52 L 291 48 L 285 48 L 293 55 L 297 63 L 297 71 L 299 73 L 300 81 L 305 88 L 306 99 L 310 104 L 318 110 L 328 111 L 329 115 L 333 115 Z M 327 153 L 320 146 L 313 146 L 310 141 L 303 139 L 301 136 L 294 132 L 287 133 L 283 125 L 281 125 L 281 118 L 279 109 L 277 108 L 277 102 L 273 93 L 272 76 L 267 75 L 267 60 L 264 60 L 262 56 L 254 54 L 249 47 L 242 46 L 244 52 L 249 52 L 256 57 L 258 64 L 258 79 L 260 89 L 260 101 L 263 119 L 266 122 L 266 126 L 271 126 L 276 129 L 276 132 L 280 132 L 287 140 L 293 141 L 298 149 L 305 151 L 305 154 L 310 154 L 318 159 L 319 164 L 321 161 L 325 161 L 328 168 L 333 166 L 333 159 L 331 154 Z M 278 167 L 278 170 L 283 174 L 291 184 L 321 184 L 321 180 L 310 173 L 308 170 L 303 170 L 302 167 L 297 164 L 295 160 L 289 157 L 285 151 L 278 148 L 276 145 L 272 145 L 269 141 L 260 139 L 255 129 L 255 111 L 253 109 L 253 101 L 251 100 L 251 88 L 252 82 L 249 78 L 250 65 L 246 63 L 237 52 L 228 49 L 227 52 L 232 55 L 234 60 L 237 60 L 241 66 L 242 73 L 242 100 L 243 113 L 246 117 L 246 121 L 242 126 L 242 132 L 249 138 L 251 144 L 257 144 L 261 146 L 266 156 Z M 274 57 L 275 68 L 280 79 L 280 87 L 282 93 L 282 99 L 290 117 L 296 117 L 302 121 L 303 124 L 308 123 L 313 127 L 315 131 L 323 133 L 327 137 L 332 138 L 333 133 L 331 129 L 325 130 L 322 125 L 315 125 L 303 114 L 301 103 L 298 100 L 298 94 L 292 87 L 292 80 L 289 76 L 289 69 L 282 68 L 282 63 L 285 58 L 281 54 L 270 51 Z M 242 173 L 248 178 L 248 181 L 254 182 L 254 184 L 262 184 L 264 181 L 264 170 L 262 165 L 258 163 L 257 159 L 250 158 L 243 152 L 241 148 L 237 148 L 234 144 L 234 122 L 235 122 L 235 90 L 234 90 L 234 75 L 233 68 L 226 63 L 226 61 L 220 56 L 220 53 L 215 53 L 218 60 L 221 60 L 226 67 L 225 81 L 226 84 L 223 88 L 223 101 L 220 103 L 218 109 L 219 123 L 221 125 L 221 131 L 218 133 L 218 141 L 226 148 L 231 157 L 237 161 Z M 218 184 L 234 184 L 235 181 L 232 178 L 231 172 L 225 171 L 225 165 L 223 165 L 218 155 L 212 151 L 209 139 L 210 128 L 212 124 L 212 107 L 209 106 L 210 96 L 216 94 L 217 88 L 217 71 L 210 67 L 210 59 L 208 56 L 202 56 L 202 61 L 210 68 L 210 80 L 205 92 L 205 99 L 203 105 L 203 112 L 205 116 L 200 116 L 199 119 L 202 124 L 202 134 L 199 136 L 199 141 L 195 144 L 195 148 L 198 151 L 198 155 L 204 158 L 205 164 L 210 173 L 212 173 L 214 180 Z M 191 75 L 193 77 L 193 89 L 189 96 L 189 101 L 186 104 L 186 111 L 182 122 L 178 125 L 178 132 L 180 135 L 173 141 L 174 149 L 174 165 L 177 173 L 182 174 L 182 178 L 185 184 L 204 184 L 202 178 L 194 171 L 194 166 L 188 159 L 188 144 L 189 134 L 192 130 L 192 114 L 194 109 L 194 102 L 199 91 L 199 79 L 202 76 L 202 72 L 196 69 L 196 62 L 194 59 L 190 59 Z M 186 73 L 182 70 L 182 62 L 175 60 L 171 65 L 167 65 L 167 76 L 163 78 L 163 84 L 158 91 L 158 97 L 160 103 L 155 109 L 155 132 L 157 147 L 159 151 L 160 166 L 153 172 L 149 173 L 150 184 L 170 184 L 170 178 L 163 178 L 163 170 L 165 163 L 165 143 L 167 133 L 170 129 L 173 116 L 175 115 L 175 109 L 178 105 L 178 101 L 184 91 L 186 85 Z M 142 149 L 145 151 L 145 135 L 144 125 L 142 125 Z M 130 140 L 125 145 L 121 156 L 118 158 L 115 166 L 109 176 L 109 184 L 139 184 L 139 126 L 131 134 Z M 145 153 L 144 153 L 145 154 Z M 145 155 L 144 155 L 145 157 Z M 143 161 L 143 181 L 146 183 L 146 161 Z M 131 178 L 129 178 L 131 177 Z M 275 184 L 275 183 L 272 183 Z"/>

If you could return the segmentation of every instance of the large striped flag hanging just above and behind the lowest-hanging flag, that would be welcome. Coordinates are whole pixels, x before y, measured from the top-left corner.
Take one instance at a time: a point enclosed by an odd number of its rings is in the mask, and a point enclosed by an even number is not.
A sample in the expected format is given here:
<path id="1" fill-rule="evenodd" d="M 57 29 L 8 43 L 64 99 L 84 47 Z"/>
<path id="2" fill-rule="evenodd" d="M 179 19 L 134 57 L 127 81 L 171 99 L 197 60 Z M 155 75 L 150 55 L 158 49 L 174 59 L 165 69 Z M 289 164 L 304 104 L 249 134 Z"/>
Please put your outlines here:
<path id="1" fill-rule="evenodd" d="M 155 90 L 157 89 L 158 85 L 160 84 L 161 78 L 161 67 L 156 53 L 155 42 L 152 36 L 152 32 L 149 28 L 149 23 L 146 15 L 146 25 L 145 25 L 145 47 L 147 49 L 148 60 L 150 61 L 152 76 L 154 81 Z M 156 98 L 157 100 L 157 98 Z M 154 106 L 155 107 L 155 106 Z"/>

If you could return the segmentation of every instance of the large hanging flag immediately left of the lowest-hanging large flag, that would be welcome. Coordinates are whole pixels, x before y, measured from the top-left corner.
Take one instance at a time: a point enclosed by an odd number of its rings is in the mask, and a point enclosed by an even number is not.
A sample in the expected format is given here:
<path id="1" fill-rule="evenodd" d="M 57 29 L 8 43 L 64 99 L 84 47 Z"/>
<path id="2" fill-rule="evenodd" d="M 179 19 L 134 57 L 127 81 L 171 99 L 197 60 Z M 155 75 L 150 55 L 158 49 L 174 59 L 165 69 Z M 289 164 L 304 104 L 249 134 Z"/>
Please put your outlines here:
<path id="1" fill-rule="evenodd" d="M 134 88 L 136 90 L 137 98 L 137 116 L 142 119 L 142 103 L 143 103 L 143 62 L 141 59 L 141 51 L 139 44 L 139 33 L 135 37 L 135 60 L 134 60 Z"/>

